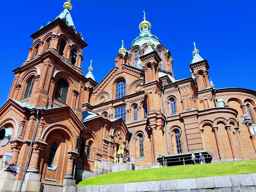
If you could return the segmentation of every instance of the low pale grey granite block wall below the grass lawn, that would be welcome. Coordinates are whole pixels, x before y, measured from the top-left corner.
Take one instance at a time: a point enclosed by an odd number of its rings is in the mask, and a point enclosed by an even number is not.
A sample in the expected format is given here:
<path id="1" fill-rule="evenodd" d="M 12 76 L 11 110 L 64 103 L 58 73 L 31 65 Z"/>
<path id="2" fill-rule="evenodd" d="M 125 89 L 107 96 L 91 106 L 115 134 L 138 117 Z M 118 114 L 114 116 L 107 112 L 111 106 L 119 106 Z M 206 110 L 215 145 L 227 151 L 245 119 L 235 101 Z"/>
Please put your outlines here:
<path id="1" fill-rule="evenodd" d="M 77 192 L 255 192 L 256 174 L 78 187 Z"/>

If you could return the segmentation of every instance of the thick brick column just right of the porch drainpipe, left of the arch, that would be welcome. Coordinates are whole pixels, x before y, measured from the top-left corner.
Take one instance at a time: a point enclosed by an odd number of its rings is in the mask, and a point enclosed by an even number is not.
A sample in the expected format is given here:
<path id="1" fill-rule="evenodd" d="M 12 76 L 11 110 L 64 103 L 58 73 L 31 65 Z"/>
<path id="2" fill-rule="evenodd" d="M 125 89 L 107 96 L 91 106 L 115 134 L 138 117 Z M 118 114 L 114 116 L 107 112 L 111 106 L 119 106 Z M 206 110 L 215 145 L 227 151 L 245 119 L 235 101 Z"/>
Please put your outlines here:
<path id="1" fill-rule="evenodd" d="M 26 172 L 39 173 L 38 160 L 39 160 L 40 150 L 42 150 L 42 146 L 40 146 L 38 142 L 34 143 L 29 166 Z"/>

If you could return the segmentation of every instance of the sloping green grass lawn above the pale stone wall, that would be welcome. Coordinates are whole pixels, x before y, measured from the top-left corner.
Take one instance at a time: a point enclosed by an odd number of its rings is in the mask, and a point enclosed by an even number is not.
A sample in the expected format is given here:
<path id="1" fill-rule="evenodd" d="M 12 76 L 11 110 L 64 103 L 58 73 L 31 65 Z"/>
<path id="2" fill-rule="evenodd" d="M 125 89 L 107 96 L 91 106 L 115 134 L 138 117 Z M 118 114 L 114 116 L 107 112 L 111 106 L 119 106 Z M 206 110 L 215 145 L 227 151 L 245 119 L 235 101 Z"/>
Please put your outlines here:
<path id="1" fill-rule="evenodd" d="M 200 178 L 248 173 L 256 173 L 256 160 L 114 172 L 82 180 L 79 182 L 78 186 Z"/>

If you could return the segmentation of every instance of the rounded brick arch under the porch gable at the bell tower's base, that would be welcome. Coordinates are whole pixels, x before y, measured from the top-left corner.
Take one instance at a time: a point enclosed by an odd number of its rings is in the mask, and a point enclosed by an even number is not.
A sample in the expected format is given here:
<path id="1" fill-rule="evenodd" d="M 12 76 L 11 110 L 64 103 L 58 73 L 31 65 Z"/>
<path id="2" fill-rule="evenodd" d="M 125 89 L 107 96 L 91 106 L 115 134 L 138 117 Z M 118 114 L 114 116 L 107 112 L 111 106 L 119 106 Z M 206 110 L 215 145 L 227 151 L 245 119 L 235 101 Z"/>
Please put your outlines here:
<path id="1" fill-rule="evenodd" d="M 47 140 L 47 137 L 49 136 L 50 133 L 53 133 L 54 130 L 60 130 L 62 133 L 62 136 L 69 141 L 69 150 L 74 150 L 75 148 L 75 143 L 76 143 L 76 137 L 75 135 L 72 133 L 72 131 L 70 130 L 70 128 L 68 128 L 67 126 L 63 125 L 63 124 L 52 124 L 50 126 L 48 126 L 43 132 L 42 132 L 42 136 L 41 139 L 43 141 Z"/>

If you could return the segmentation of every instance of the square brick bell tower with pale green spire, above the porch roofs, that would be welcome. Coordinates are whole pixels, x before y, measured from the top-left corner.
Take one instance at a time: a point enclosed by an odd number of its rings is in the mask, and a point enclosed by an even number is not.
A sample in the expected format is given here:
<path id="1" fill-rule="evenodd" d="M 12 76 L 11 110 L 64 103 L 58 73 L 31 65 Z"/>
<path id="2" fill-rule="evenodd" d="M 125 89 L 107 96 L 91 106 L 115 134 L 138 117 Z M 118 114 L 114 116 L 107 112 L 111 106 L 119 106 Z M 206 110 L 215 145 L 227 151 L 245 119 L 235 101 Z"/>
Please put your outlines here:
<path id="1" fill-rule="evenodd" d="M 70 0 L 63 7 L 59 16 L 30 36 L 33 43 L 28 58 L 13 70 L 8 98 L 34 107 L 68 105 L 82 113 L 84 85 L 88 82 L 81 69 L 82 49 L 88 45 L 76 31 Z"/>

